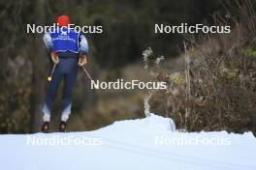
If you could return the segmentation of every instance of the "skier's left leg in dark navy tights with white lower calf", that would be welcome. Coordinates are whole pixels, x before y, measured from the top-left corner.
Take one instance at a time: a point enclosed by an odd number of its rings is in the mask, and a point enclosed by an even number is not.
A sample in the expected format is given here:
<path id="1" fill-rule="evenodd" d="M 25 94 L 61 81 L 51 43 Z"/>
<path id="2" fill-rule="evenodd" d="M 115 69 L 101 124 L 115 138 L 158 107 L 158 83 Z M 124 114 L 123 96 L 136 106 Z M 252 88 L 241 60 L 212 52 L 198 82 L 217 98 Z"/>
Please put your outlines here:
<path id="1" fill-rule="evenodd" d="M 56 99 L 58 86 L 60 84 L 60 81 L 63 75 L 60 65 L 61 64 L 56 66 L 56 69 L 52 74 L 52 79 L 51 81 L 48 82 L 47 98 L 43 106 L 44 122 L 49 122 L 53 102 L 54 102 L 54 99 Z"/>

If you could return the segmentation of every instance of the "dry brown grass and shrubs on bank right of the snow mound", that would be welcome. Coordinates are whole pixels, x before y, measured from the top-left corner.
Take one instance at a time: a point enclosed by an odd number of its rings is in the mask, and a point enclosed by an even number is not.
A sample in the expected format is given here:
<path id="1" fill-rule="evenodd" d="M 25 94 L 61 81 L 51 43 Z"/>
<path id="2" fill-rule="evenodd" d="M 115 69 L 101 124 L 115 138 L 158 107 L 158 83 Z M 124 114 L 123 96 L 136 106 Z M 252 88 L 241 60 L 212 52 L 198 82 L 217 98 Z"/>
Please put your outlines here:
<path id="1" fill-rule="evenodd" d="M 255 3 L 223 5 L 237 14 L 215 14 L 214 20 L 232 24 L 231 34 L 188 38 L 183 71 L 170 74 L 156 65 L 149 68 L 156 79 L 169 84 L 166 91 L 151 92 L 151 111 L 172 117 L 178 128 L 190 131 L 256 132 Z"/>

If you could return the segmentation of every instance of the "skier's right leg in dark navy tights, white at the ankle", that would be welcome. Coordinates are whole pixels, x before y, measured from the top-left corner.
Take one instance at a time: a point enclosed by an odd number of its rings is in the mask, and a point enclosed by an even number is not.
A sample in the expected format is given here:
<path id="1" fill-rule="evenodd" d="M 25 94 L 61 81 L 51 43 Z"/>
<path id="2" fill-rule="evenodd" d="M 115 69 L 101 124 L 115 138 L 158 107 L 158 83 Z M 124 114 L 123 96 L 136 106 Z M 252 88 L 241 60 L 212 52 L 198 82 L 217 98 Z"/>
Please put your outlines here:
<path id="1" fill-rule="evenodd" d="M 72 91 L 78 77 L 78 59 L 70 58 L 66 61 L 68 64 L 66 65 L 67 68 L 62 93 L 62 122 L 66 122 L 71 114 Z"/>

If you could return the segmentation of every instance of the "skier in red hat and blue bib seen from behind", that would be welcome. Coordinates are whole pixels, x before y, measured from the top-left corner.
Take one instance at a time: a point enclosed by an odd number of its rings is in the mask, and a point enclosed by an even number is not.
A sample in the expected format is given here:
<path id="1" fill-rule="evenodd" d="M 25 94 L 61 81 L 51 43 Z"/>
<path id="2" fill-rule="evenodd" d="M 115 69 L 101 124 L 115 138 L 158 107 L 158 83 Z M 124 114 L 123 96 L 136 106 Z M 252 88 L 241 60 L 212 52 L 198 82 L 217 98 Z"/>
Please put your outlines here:
<path id="1" fill-rule="evenodd" d="M 42 132 L 48 132 L 52 106 L 57 96 L 60 81 L 64 80 L 62 92 L 62 116 L 59 131 L 65 132 L 67 120 L 71 114 L 72 89 L 76 82 L 79 66 L 87 63 L 88 44 L 83 35 L 68 28 L 70 17 L 60 15 L 57 17 L 57 24 L 60 31 L 52 31 L 44 35 L 44 42 L 47 46 L 48 54 L 51 59 L 52 75 L 48 79 L 47 98 L 44 103 L 44 124 Z M 54 67 L 55 66 L 55 67 Z M 54 68 L 54 69 L 53 69 Z"/>

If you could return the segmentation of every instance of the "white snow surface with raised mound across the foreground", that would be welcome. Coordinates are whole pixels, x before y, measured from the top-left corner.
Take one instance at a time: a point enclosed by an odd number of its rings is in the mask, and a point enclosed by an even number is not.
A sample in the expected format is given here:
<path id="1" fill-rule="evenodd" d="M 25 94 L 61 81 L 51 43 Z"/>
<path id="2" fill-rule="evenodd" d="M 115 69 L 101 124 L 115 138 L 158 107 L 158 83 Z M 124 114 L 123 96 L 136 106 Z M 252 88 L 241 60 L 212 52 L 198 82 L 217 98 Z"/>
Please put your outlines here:
<path id="1" fill-rule="evenodd" d="M 178 132 L 171 122 L 151 114 L 94 131 L 0 135 L 0 169 L 256 170 L 251 132 Z"/>

